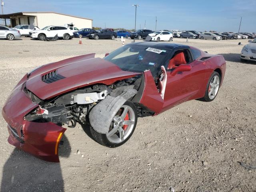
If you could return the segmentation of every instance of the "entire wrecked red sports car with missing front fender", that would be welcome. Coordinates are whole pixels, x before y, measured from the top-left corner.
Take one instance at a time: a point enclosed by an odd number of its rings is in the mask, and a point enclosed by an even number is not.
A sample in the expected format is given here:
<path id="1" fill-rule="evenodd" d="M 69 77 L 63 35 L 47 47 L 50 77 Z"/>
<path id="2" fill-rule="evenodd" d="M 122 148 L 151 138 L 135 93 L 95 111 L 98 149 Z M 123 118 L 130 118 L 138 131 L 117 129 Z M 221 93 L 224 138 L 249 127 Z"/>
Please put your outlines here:
<path id="1" fill-rule="evenodd" d="M 100 144 L 120 146 L 138 117 L 192 99 L 214 100 L 226 69 L 223 56 L 182 44 L 138 42 L 94 56 L 46 64 L 20 80 L 2 110 L 10 144 L 58 162 L 62 125 L 78 122 L 90 125 Z"/>

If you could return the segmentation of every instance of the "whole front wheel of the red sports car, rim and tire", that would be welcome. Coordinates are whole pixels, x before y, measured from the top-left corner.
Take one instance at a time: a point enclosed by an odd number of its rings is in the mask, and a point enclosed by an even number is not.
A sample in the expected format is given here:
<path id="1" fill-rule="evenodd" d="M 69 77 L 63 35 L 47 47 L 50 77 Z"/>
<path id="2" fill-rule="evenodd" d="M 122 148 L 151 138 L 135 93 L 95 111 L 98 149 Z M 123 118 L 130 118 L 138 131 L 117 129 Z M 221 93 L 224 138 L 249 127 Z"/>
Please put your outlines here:
<path id="1" fill-rule="evenodd" d="M 118 147 L 132 136 L 137 124 L 137 110 L 134 104 L 126 101 L 114 116 L 107 134 L 100 134 L 92 127 L 92 137 L 107 147 Z"/>

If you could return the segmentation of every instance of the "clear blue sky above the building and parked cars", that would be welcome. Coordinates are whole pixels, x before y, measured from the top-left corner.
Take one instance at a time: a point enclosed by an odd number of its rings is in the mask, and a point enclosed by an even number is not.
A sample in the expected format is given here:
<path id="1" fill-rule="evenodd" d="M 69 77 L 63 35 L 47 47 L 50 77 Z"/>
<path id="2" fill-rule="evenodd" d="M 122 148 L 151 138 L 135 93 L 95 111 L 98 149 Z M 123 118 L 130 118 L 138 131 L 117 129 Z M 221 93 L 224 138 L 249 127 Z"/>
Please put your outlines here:
<path id="1" fill-rule="evenodd" d="M 4 14 L 59 12 L 93 19 L 92 26 L 150 30 L 256 32 L 256 0 L 3 0 Z M 157 23 L 156 23 L 157 18 Z"/>

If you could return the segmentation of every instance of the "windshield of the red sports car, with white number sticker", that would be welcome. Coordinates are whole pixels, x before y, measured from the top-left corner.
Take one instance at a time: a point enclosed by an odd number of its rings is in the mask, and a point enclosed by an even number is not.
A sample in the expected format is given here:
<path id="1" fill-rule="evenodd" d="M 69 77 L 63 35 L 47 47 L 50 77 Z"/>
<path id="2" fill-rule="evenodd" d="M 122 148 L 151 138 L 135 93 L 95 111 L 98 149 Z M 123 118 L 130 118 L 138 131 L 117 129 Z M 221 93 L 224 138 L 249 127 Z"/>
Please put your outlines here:
<path id="1" fill-rule="evenodd" d="M 112 62 L 123 71 L 144 72 L 150 70 L 156 77 L 162 65 L 165 65 L 166 56 L 172 50 L 157 49 L 148 46 L 126 45 L 104 57 L 104 60 Z"/>

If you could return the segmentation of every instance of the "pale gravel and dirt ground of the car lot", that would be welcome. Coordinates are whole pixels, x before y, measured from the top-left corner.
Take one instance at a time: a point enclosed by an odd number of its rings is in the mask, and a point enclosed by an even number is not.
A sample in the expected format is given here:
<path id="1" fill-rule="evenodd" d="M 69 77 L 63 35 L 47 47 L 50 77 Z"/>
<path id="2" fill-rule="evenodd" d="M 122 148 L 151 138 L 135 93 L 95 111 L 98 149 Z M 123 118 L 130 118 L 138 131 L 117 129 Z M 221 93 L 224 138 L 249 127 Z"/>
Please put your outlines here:
<path id="1" fill-rule="evenodd" d="M 113 40 L 82 42 L 0 40 L 0 109 L 18 80 L 36 66 L 94 52 L 103 57 L 122 46 Z M 1 192 L 256 191 L 256 63 L 241 63 L 238 45 L 247 40 L 174 42 L 226 59 L 224 83 L 213 102 L 192 100 L 139 118 L 132 138 L 118 148 L 99 145 L 80 125 L 69 128 L 60 163 L 8 144 L 6 122 L 0 118 Z"/>

